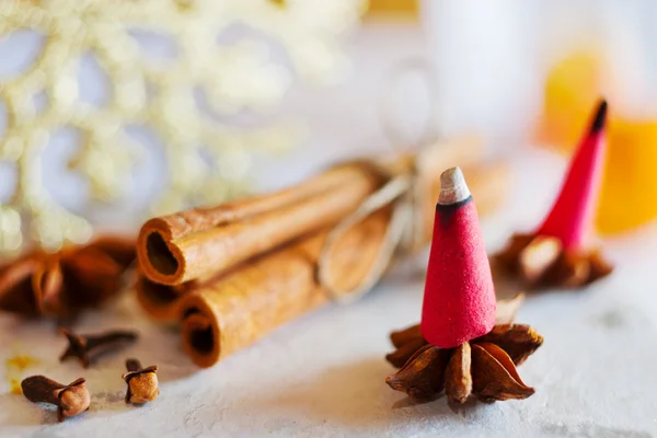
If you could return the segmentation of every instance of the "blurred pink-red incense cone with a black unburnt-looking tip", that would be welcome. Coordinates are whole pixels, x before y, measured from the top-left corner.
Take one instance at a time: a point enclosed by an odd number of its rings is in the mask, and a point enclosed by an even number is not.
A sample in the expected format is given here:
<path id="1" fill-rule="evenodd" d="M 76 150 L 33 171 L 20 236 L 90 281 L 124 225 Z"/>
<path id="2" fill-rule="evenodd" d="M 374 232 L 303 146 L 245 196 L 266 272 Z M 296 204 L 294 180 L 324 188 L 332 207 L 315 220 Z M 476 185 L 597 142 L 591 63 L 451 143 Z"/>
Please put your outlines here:
<path id="1" fill-rule="evenodd" d="M 573 157 L 552 210 L 537 231 L 557 238 L 565 250 L 581 247 L 590 235 L 604 161 L 606 118 L 607 102 L 602 101 Z"/>

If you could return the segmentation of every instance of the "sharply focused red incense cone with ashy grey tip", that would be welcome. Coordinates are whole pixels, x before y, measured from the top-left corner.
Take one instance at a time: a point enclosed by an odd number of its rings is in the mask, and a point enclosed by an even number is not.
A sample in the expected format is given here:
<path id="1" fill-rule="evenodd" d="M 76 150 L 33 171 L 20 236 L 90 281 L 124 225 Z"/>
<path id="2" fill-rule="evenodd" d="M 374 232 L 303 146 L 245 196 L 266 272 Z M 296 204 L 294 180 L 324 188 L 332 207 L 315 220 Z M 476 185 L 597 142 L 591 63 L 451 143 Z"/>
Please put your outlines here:
<path id="1" fill-rule="evenodd" d="M 422 312 L 424 337 L 441 348 L 495 325 L 495 289 L 476 207 L 459 168 L 440 175 Z"/>

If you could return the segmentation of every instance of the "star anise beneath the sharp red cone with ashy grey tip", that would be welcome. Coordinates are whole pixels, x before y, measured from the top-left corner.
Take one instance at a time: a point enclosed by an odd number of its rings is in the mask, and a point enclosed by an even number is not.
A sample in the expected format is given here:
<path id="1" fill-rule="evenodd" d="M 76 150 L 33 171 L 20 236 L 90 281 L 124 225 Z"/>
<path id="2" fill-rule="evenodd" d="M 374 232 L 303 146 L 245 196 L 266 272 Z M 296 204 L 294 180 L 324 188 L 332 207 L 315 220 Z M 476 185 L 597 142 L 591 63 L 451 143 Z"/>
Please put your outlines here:
<path id="1" fill-rule="evenodd" d="M 442 391 L 456 403 L 464 403 L 471 394 L 483 402 L 532 395 L 533 388 L 522 382 L 516 366 L 543 344 L 543 337 L 529 325 L 500 323 L 512 320 L 519 301 L 520 297 L 500 302 L 499 324 L 456 348 L 430 345 L 419 325 L 392 333 L 390 339 L 396 350 L 385 358 L 400 370 L 385 382 L 417 402 L 430 401 Z"/>

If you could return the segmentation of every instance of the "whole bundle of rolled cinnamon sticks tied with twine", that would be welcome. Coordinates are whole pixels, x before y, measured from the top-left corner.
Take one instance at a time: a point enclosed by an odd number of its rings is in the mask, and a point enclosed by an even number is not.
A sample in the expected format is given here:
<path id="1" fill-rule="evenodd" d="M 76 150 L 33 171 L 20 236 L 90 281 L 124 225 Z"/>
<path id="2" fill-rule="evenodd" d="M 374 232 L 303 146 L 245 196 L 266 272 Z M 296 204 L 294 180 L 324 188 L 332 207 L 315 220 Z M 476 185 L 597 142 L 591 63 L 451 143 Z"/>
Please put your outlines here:
<path id="1" fill-rule="evenodd" d="M 151 219 L 137 242 L 138 300 L 155 320 L 178 322 L 187 354 L 212 366 L 330 301 L 318 276 L 326 239 L 391 175 L 413 172 L 423 188 L 415 209 L 425 243 L 443 169 L 464 170 L 480 215 L 497 207 L 507 169 L 481 157 L 473 139 L 439 143 L 418 155 L 339 164 L 269 195 Z M 332 285 L 350 290 L 369 275 L 394 208 L 390 203 L 372 211 L 334 242 L 323 266 Z"/>

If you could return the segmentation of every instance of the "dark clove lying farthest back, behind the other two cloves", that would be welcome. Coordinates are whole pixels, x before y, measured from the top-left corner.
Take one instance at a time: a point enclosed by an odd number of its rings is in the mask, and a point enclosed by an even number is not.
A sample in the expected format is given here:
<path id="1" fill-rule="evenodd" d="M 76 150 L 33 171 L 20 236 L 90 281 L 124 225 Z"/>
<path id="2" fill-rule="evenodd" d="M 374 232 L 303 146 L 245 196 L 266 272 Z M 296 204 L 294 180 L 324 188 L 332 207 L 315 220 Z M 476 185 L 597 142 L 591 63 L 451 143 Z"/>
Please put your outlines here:
<path id="1" fill-rule="evenodd" d="M 115 350 L 120 346 L 137 341 L 139 335 L 131 331 L 112 331 L 99 335 L 78 335 L 69 330 L 61 328 L 61 333 L 69 342 L 69 346 L 59 357 L 65 361 L 69 357 L 80 360 L 82 367 L 89 368 L 100 355 Z M 92 353 L 94 356 L 92 357 Z"/>

